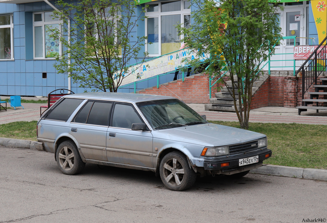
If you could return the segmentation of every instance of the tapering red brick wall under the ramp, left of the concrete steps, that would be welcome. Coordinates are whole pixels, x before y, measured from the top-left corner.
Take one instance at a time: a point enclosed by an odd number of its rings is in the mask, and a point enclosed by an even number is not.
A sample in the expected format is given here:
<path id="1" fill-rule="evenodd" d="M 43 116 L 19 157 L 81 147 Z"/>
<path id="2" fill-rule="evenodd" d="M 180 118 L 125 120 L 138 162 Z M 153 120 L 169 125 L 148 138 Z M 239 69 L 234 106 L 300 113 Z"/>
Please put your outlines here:
<path id="1" fill-rule="evenodd" d="M 146 88 L 136 93 L 170 96 L 181 99 L 185 103 L 207 104 L 209 103 L 209 79 L 205 74 L 195 74 L 186 77 L 184 82 L 180 80 L 171 81 L 160 85 L 159 88 Z M 211 97 L 215 97 L 214 87 Z"/>

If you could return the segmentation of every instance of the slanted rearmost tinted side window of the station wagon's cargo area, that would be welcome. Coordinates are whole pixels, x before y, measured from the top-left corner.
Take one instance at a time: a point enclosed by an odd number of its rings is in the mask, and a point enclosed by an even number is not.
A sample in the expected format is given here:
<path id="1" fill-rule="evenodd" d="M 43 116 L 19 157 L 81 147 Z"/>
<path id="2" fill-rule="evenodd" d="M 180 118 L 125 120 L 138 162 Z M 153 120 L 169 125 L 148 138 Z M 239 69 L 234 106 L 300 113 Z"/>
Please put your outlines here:
<path id="1" fill-rule="evenodd" d="M 80 105 L 84 99 L 65 98 L 60 104 L 50 110 L 45 119 L 67 121 L 75 109 Z"/>

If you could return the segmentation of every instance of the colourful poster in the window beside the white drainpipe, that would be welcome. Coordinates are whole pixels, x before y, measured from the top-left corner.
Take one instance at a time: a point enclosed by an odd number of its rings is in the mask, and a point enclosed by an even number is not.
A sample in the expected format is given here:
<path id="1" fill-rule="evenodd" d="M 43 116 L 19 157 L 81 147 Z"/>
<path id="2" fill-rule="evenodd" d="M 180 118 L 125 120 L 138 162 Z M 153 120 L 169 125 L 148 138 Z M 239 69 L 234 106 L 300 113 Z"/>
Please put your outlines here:
<path id="1" fill-rule="evenodd" d="M 50 37 L 54 28 L 59 29 L 59 24 L 45 25 L 45 58 L 54 58 L 59 55 L 59 40 Z"/>

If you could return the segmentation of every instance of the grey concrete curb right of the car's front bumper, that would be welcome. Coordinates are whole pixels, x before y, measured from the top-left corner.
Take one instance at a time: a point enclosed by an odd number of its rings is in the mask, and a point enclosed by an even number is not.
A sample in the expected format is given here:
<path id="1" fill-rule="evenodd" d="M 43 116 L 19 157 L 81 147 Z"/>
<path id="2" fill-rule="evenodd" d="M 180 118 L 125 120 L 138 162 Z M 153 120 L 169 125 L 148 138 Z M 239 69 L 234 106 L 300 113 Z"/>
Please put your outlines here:
<path id="1" fill-rule="evenodd" d="M 284 166 L 269 164 L 269 165 L 259 167 L 257 169 L 252 169 L 252 170 L 250 170 L 250 173 L 327 181 L 327 170 L 326 169 L 284 167 Z"/>

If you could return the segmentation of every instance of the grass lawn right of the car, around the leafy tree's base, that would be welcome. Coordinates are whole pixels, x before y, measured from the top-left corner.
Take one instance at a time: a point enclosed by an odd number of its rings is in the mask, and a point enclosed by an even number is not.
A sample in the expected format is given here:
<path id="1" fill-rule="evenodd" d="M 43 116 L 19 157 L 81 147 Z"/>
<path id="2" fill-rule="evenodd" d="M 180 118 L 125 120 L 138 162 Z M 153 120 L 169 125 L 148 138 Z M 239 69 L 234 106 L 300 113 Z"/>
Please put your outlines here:
<path id="1" fill-rule="evenodd" d="M 239 128 L 238 122 L 210 121 Z M 249 130 L 267 135 L 272 156 L 265 164 L 327 169 L 327 126 L 249 123 Z"/>

